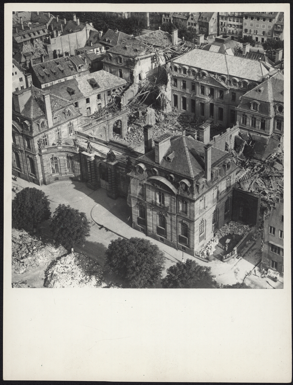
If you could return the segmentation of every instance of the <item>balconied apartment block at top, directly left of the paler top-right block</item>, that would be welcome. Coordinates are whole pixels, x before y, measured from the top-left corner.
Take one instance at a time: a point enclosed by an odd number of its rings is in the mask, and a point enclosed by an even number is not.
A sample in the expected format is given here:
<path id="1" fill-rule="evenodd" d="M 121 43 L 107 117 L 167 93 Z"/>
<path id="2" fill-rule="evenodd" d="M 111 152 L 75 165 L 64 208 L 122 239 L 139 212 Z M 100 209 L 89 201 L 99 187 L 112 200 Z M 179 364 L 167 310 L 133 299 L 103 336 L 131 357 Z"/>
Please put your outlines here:
<path id="1" fill-rule="evenodd" d="M 219 12 L 219 35 L 232 36 L 234 40 L 242 38 L 243 12 Z"/>

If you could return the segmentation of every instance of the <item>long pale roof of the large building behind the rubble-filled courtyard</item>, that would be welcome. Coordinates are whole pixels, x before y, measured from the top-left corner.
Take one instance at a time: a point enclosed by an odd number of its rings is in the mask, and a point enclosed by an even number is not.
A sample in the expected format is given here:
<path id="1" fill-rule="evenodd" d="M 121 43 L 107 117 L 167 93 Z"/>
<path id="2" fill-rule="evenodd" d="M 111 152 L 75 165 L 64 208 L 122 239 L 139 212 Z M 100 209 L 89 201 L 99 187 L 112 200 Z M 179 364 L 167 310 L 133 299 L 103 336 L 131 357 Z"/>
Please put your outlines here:
<path id="1" fill-rule="evenodd" d="M 193 49 L 172 60 L 172 62 L 258 82 L 261 82 L 269 74 L 266 67 L 259 61 L 201 49 Z"/>

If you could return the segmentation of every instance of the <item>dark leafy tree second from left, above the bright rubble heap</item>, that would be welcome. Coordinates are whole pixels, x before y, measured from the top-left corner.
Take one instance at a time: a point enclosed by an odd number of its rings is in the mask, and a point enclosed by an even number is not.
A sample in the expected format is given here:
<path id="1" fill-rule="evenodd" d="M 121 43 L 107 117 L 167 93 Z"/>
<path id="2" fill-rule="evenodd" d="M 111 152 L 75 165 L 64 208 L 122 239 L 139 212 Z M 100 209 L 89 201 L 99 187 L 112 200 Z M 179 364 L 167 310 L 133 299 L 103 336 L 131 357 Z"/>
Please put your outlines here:
<path id="1" fill-rule="evenodd" d="M 53 233 L 55 245 L 62 245 L 67 249 L 73 248 L 74 244 L 85 242 L 85 237 L 89 236 L 89 221 L 85 213 L 59 204 L 54 211 L 50 229 Z"/>

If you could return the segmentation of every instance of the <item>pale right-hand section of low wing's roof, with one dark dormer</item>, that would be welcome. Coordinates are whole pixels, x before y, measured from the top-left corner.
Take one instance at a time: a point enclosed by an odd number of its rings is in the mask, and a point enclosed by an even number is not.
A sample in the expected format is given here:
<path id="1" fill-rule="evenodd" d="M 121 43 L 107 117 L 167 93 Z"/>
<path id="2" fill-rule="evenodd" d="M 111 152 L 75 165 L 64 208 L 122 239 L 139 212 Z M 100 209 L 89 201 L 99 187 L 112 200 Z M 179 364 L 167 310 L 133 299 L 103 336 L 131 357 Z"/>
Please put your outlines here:
<path id="1" fill-rule="evenodd" d="M 95 81 L 99 85 L 99 88 L 92 88 L 88 82 L 88 80 L 90 79 L 95 79 Z M 77 81 L 78 88 L 80 92 L 84 95 L 84 97 L 99 94 L 100 92 L 103 92 L 105 90 L 122 87 L 122 85 L 127 84 L 127 81 L 125 79 L 112 75 L 104 70 L 92 72 L 91 74 L 77 77 L 75 80 Z"/>

